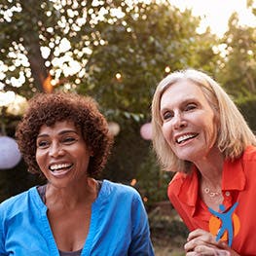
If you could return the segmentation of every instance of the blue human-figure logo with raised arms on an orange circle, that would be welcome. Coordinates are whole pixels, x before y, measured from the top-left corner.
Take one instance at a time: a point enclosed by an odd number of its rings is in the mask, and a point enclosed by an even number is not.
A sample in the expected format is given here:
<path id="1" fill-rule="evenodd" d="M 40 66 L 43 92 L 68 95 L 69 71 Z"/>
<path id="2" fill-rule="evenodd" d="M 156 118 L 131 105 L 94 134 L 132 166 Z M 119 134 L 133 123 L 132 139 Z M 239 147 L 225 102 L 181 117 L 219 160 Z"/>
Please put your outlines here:
<path id="1" fill-rule="evenodd" d="M 209 231 L 216 240 L 228 240 L 229 246 L 232 245 L 233 238 L 238 235 L 240 222 L 238 215 L 234 213 L 238 206 L 238 201 L 228 210 L 223 204 L 219 205 L 220 212 L 208 207 L 208 210 L 213 214 L 209 220 Z"/>

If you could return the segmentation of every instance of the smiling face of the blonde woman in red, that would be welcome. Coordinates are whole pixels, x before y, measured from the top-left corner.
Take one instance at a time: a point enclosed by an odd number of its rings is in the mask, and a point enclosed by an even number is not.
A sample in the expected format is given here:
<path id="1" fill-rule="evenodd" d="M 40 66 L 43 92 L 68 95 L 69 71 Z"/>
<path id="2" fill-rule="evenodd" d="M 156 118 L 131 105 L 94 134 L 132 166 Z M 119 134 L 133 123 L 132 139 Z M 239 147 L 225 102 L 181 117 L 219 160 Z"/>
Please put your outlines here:
<path id="1" fill-rule="evenodd" d="M 189 80 L 171 85 L 160 111 L 163 135 L 179 159 L 197 164 L 216 150 L 216 117 L 199 86 Z"/>

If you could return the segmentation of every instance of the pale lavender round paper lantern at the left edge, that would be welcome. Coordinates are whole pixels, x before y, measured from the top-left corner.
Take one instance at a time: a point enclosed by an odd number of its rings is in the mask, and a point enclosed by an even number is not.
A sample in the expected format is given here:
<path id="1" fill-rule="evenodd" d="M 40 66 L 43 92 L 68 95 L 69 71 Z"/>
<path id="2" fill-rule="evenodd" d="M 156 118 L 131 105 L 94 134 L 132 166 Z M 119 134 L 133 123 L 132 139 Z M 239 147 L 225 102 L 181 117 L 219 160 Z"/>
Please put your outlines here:
<path id="1" fill-rule="evenodd" d="M 0 136 L 0 169 L 13 168 L 18 165 L 21 155 L 15 139 L 8 136 Z"/>

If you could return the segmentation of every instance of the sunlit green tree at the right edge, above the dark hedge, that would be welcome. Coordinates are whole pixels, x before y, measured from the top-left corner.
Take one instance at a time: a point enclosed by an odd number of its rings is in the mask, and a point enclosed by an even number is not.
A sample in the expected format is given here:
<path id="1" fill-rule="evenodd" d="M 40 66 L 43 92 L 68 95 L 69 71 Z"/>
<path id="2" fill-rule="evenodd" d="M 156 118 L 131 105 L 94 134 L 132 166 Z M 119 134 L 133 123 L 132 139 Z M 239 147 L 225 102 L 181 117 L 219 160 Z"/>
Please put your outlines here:
<path id="1" fill-rule="evenodd" d="M 238 15 L 234 14 L 222 40 L 225 56 L 219 64 L 217 79 L 235 98 L 256 94 L 255 42 L 255 28 L 240 26 Z"/>

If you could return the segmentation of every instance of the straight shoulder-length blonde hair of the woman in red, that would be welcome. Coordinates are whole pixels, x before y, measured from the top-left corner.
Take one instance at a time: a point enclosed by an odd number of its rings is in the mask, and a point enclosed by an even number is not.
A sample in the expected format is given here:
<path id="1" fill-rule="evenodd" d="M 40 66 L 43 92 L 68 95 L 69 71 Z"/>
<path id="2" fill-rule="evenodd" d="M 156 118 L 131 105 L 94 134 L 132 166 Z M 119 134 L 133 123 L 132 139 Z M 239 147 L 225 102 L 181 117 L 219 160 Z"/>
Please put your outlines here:
<path id="1" fill-rule="evenodd" d="M 194 69 L 176 71 L 160 82 L 152 101 L 153 146 L 158 160 L 165 170 L 185 172 L 190 170 L 191 163 L 178 159 L 165 141 L 162 132 L 163 121 L 160 114 L 160 102 L 163 93 L 171 85 L 184 80 L 193 82 L 201 88 L 219 120 L 216 145 L 225 159 L 235 160 L 242 154 L 246 146 L 256 145 L 256 137 L 238 111 L 238 107 L 226 91 L 212 78 Z"/>

